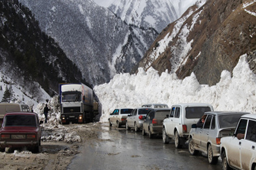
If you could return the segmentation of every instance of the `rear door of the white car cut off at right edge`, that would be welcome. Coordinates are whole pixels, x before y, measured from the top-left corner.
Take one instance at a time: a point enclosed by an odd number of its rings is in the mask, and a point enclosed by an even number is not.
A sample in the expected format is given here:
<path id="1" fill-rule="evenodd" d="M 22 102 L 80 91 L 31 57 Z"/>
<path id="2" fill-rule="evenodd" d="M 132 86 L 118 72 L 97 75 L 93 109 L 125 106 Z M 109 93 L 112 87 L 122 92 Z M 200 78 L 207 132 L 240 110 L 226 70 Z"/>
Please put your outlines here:
<path id="1" fill-rule="evenodd" d="M 250 169 L 250 161 L 253 158 L 256 147 L 256 121 L 249 120 L 245 139 L 241 139 L 240 162 L 241 169 Z"/>

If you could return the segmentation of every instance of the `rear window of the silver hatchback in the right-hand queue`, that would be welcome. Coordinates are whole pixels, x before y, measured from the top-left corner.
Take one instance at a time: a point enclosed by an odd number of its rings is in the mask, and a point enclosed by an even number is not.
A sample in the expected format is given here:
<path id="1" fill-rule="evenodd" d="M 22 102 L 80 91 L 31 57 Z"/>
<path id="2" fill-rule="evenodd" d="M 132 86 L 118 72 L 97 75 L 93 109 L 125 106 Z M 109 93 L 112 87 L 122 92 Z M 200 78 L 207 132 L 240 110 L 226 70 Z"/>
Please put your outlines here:
<path id="1" fill-rule="evenodd" d="M 218 122 L 220 128 L 235 128 L 238 124 L 239 118 L 243 114 L 230 114 L 230 115 L 220 115 L 218 116 Z"/>

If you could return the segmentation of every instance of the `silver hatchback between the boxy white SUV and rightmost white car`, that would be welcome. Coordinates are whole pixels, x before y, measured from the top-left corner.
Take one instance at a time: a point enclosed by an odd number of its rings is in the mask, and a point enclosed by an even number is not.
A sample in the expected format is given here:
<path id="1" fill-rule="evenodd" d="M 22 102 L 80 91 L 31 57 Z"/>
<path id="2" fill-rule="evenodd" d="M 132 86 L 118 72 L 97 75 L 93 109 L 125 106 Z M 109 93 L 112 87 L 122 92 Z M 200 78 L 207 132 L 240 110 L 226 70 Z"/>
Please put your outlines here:
<path id="1" fill-rule="evenodd" d="M 189 133 L 189 153 L 198 151 L 207 154 L 208 162 L 216 164 L 220 156 L 220 140 L 235 132 L 239 118 L 245 112 L 209 111 L 203 114 L 197 124 L 192 125 Z"/>

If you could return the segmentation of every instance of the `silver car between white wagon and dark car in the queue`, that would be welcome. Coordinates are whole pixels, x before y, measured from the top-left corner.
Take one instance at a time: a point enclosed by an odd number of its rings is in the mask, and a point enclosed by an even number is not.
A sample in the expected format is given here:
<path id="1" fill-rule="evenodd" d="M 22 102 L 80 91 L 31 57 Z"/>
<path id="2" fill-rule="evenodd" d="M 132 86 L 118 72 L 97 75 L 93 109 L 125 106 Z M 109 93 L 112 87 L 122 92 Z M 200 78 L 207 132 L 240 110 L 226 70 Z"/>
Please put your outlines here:
<path id="1" fill-rule="evenodd" d="M 152 108 L 136 108 L 132 110 L 132 113 L 128 115 L 126 119 L 125 127 L 127 130 L 134 128 L 135 132 L 138 132 L 142 129 L 142 125 L 144 119 L 148 111 L 152 110 Z"/>

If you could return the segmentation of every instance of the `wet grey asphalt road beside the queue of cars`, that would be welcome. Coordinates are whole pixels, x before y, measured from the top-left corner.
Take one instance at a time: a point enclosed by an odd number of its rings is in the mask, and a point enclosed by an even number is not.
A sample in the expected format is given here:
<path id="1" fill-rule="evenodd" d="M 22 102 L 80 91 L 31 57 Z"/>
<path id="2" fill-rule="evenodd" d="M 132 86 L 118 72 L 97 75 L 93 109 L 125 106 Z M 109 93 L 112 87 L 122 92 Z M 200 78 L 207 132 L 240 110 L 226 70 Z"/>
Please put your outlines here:
<path id="1" fill-rule="evenodd" d="M 221 169 L 207 157 L 190 156 L 188 147 L 176 149 L 173 141 L 163 144 L 161 138 L 149 139 L 141 132 L 102 124 L 98 140 L 84 142 L 67 169 Z"/>

